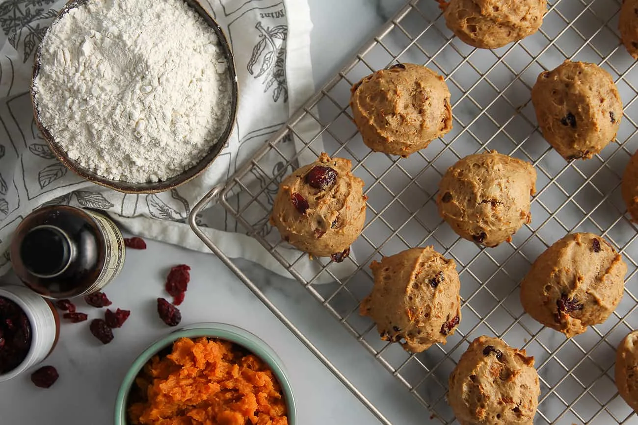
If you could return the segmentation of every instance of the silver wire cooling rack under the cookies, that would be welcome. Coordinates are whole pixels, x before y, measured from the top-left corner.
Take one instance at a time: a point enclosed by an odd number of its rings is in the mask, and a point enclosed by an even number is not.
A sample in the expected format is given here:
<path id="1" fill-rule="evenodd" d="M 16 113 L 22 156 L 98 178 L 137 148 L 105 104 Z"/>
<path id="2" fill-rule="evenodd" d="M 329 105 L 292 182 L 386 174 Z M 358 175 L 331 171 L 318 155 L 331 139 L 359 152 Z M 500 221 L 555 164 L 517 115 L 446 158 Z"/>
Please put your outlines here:
<path id="1" fill-rule="evenodd" d="M 634 278 L 638 263 L 636 227 L 625 217 L 619 194 L 621 175 L 638 147 L 632 117 L 638 94 L 638 70 L 619 42 L 620 0 L 550 0 L 542 29 L 518 43 L 477 50 L 454 38 L 434 0 L 412 0 L 383 25 L 355 57 L 228 182 L 212 189 L 191 215 L 194 231 L 242 278 L 288 328 L 384 423 L 390 422 L 332 366 L 319 350 L 242 275 L 202 233 L 195 216 L 220 203 L 247 234 L 258 240 L 353 336 L 406 386 L 442 423 L 454 423 L 445 400 L 447 378 L 468 342 L 480 335 L 503 338 L 535 357 L 541 396 L 535 423 L 638 423 L 618 396 L 613 379 L 614 352 L 638 324 Z M 565 59 L 595 62 L 618 85 L 625 106 L 616 140 L 588 161 L 565 162 L 538 131 L 530 90 L 538 74 Z M 454 129 L 429 147 L 402 159 L 370 152 L 352 123 L 350 86 L 396 62 L 425 64 L 445 76 L 452 93 Z M 281 144 L 297 141 L 295 156 Z M 537 194 L 531 224 L 510 243 L 484 249 L 459 239 L 436 212 L 434 200 L 445 170 L 459 158 L 498 150 L 534 164 Z M 343 264 L 310 259 L 282 242 L 267 223 L 281 178 L 298 166 L 302 152 L 352 160 L 366 182 L 366 227 Z M 273 170 L 272 159 L 278 161 Z M 245 183 L 260 175 L 260 184 Z M 252 179 L 254 180 L 254 178 Z M 582 335 L 566 339 L 528 317 L 519 301 L 519 282 L 538 254 L 574 231 L 604 236 L 628 264 L 625 295 L 609 319 Z M 371 290 L 368 264 L 410 247 L 433 245 L 453 257 L 461 276 L 463 320 L 446 345 L 407 354 L 380 340 L 358 306 Z M 308 273 L 308 263 L 315 271 Z M 334 284 L 320 285 L 326 277 Z"/>

